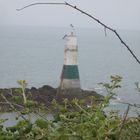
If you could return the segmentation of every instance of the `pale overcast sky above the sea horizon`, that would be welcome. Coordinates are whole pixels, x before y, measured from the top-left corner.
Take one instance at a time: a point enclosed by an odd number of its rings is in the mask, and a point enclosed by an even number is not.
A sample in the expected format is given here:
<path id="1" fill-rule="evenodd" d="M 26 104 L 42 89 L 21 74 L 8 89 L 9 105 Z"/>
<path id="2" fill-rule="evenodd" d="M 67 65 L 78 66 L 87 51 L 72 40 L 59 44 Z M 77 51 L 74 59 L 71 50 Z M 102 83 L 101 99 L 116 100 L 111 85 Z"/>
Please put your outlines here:
<path id="1" fill-rule="evenodd" d="M 115 29 L 140 30 L 140 0 L 66 0 Z M 63 0 L 0 0 L 0 25 L 100 26 L 89 17 L 66 6 L 39 5 L 16 11 L 32 2 L 63 2 Z"/>

